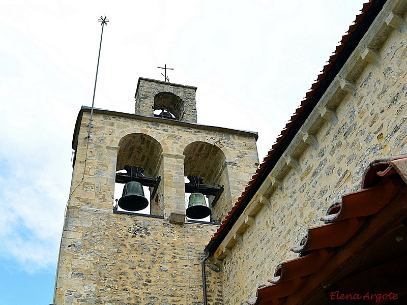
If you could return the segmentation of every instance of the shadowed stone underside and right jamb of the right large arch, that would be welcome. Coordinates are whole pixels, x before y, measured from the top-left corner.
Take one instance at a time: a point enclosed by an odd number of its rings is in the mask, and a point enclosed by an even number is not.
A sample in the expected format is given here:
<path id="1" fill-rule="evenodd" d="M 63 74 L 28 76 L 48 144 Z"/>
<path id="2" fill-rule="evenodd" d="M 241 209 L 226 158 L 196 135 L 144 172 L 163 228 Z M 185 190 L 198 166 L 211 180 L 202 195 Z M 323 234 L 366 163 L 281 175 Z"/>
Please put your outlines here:
<path id="1" fill-rule="evenodd" d="M 204 177 L 203 183 L 206 185 L 224 186 L 224 191 L 212 211 L 212 219 L 219 221 L 221 218 L 219 207 L 225 204 L 229 205 L 231 201 L 225 154 L 217 145 L 203 141 L 188 144 L 183 154 L 185 156 L 185 176 L 202 176 Z M 209 199 L 212 202 L 214 197 Z"/>

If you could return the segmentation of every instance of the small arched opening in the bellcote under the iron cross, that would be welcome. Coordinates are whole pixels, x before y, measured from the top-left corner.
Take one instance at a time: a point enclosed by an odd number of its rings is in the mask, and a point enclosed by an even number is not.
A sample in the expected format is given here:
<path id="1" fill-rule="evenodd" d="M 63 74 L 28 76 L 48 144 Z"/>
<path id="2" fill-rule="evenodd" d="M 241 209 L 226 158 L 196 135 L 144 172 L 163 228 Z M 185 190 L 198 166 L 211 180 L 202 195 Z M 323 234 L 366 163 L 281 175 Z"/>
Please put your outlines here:
<path id="1" fill-rule="evenodd" d="M 154 96 L 154 116 L 182 119 L 184 114 L 183 101 L 170 92 L 160 92 Z"/>

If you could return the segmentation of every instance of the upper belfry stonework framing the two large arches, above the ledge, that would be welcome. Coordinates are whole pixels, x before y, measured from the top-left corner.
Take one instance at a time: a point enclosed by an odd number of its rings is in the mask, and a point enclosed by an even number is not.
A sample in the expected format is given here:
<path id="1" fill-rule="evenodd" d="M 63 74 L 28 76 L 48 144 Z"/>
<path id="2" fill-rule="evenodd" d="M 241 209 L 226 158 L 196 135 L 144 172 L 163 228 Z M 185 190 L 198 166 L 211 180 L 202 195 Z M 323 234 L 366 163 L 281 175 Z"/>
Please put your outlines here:
<path id="1" fill-rule="evenodd" d="M 114 177 L 117 156 L 121 147 L 120 141 L 132 134 L 147 135 L 152 141 L 161 146 L 157 156 L 156 174 L 161 175 L 159 191 L 162 198 L 158 198 L 156 215 L 166 215 L 175 210 L 184 210 L 184 149 L 194 142 L 205 142 L 222 151 L 224 155 L 223 167 L 228 172 L 228 180 L 223 179 L 225 191 L 221 195 L 220 203 L 216 204 L 213 217 L 223 219 L 244 190 L 244 187 L 257 167 L 258 156 L 255 144 L 255 134 L 222 130 L 219 128 L 186 124 L 180 121 L 163 120 L 136 115 L 124 115 L 110 111 L 95 110 L 92 137 L 88 143 L 85 140 L 86 124 L 89 113 L 83 112 L 78 134 L 78 147 L 74 165 L 74 175 L 71 192 L 80 185 L 72 195 L 71 205 L 85 205 L 89 207 L 110 209 L 113 203 Z M 227 133 L 230 131 L 230 133 Z M 138 145 L 127 143 L 123 147 Z M 142 145 L 141 145 L 142 146 Z M 148 146 L 148 145 L 147 145 Z M 123 148 L 122 147 L 122 148 Z M 149 148 L 146 148 L 149 151 Z M 156 149 L 159 151 L 159 149 Z M 128 161 L 135 160 L 132 154 Z M 138 154 L 139 155 L 139 154 Z M 152 157 L 156 157 L 154 154 Z M 85 167 L 86 157 L 86 167 Z M 150 156 L 151 157 L 151 156 Z M 124 158 L 124 157 L 123 157 Z M 144 158 L 144 157 L 143 157 Z M 146 155 L 145 158 L 149 158 Z M 203 159 L 206 156 L 202 156 Z M 209 156 L 208 156 L 209 158 Z M 136 160 L 137 165 L 143 167 L 144 160 Z M 124 162 L 118 164 L 123 165 Z M 149 166 L 151 167 L 151 166 Z M 223 169 L 222 169 L 223 170 Z M 212 173 L 211 173 L 212 174 Z M 208 173 L 209 175 L 209 173 Z M 83 181 L 82 181 L 83 178 Z M 205 180 L 204 180 L 205 181 Z M 219 183 L 220 183 L 219 182 Z"/>

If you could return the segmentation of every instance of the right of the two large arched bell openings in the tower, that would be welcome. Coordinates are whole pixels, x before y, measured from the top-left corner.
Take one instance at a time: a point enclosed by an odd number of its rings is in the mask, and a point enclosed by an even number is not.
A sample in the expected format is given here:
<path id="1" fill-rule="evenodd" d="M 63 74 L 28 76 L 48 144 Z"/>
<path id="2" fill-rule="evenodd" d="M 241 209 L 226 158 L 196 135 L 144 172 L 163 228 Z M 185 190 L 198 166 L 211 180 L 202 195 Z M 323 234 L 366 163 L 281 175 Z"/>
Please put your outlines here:
<path id="1" fill-rule="evenodd" d="M 211 221 L 219 222 L 220 217 L 215 211 L 214 203 L 223 205 L 225 200 L 230 201 L 230 192 L 226 190 L 223 191 L 223 186 L 228 189 L 228 174 L 225 166 L 225 155 L 223 151 L 216 145 L 207 143 L 207 142 L 193 142 L 190 143 L 184 149 L 184 175 L 193 176 L 193 177 L 203 177 L 203 180 L 200 180 L 202 184 L 207 186 L 206 189 L 210 187 L 218 188 L 218 191 L 209 195 L 208 191 L 205 197 L 207 198 L 207 203 L 212 209 Z M 191 181 L 191 179 L 188 179 Z M 192 178 L 192 181 L 196 180 Z M 191 182 L 192 182 L 191 181 Z M 186 180 L 186 182 L 188 182 Z M 187 186 L 187 185 L 186 185 Z M 186 207 L 188 207 L 189 194 L 186 188 Z M 191 193 L 194 191 L 191 191 Z M 203 191 L 199 191 L 204 193 Z M 229 198 L 229 199 L 228 199 Z M 205 219 L 207 220 L 207 219 Z"/>

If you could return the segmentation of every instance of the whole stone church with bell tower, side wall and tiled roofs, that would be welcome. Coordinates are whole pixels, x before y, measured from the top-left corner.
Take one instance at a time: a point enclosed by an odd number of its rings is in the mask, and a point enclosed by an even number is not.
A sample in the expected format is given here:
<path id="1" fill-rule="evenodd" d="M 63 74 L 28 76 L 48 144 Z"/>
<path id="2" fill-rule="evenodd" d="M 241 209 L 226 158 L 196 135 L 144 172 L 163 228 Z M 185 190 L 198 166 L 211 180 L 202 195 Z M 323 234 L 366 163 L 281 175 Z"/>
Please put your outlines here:
<path id="1" fill-rule="evenodd" d="M 82 106 L 53 303 L 407 303 L 406 20 L 366 3 L 260 163 L 196 87 Z"/>

